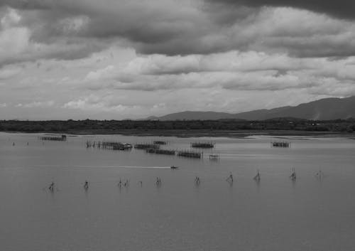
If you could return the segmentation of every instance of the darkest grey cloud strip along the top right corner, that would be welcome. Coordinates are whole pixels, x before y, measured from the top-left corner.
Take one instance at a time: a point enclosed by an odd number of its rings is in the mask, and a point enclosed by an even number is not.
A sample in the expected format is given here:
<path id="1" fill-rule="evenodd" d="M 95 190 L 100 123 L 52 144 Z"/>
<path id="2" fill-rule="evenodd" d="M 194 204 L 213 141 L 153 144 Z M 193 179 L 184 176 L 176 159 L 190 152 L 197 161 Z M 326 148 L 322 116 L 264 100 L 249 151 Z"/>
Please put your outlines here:
<path id="1" fill-rule="evenodd" d="M 308 9 L 319 13 L 329 14 L 337 18 L 355 18 L 354 0 L 206 0 L 210 3 L 223 3 L 231 6 L 285 6 Z"/>

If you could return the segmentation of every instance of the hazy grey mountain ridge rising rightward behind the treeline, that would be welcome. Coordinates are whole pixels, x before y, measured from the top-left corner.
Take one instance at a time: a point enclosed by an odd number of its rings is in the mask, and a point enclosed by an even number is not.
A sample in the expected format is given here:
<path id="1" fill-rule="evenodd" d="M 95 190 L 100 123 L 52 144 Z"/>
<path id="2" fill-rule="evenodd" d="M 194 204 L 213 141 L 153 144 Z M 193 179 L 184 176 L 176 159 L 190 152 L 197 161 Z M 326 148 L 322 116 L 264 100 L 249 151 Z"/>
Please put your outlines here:
<path id="1" fill-rule="evenodd" d="M 297 105 L 295 107 L 278 107 L 271 110 L 253 110 L 231 114 L 226 112 L 177 112 L 162 117 L 149 117 L 151 120 L 214 120 L 245 119 L 265 120 L 282 117 L 297 119 L 330 120 L 355 118 L 355 96 L 346 98 L 326 98 Z"/>

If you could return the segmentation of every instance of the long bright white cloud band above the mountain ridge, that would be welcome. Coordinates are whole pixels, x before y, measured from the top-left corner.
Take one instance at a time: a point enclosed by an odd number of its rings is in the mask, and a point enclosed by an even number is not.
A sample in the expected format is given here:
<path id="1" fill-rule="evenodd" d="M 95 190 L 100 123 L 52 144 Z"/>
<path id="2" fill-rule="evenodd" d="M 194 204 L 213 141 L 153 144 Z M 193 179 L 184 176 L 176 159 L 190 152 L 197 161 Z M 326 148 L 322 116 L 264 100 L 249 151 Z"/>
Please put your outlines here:
<path id="1" fill-rule="evenodd" d="M 138 55 L 124 65 L 92 71 L 83 86 L 91 90 L 178 90 L 222 87 L 232 90 L 285 90 L 354 84 L 355 58 L 294 58 L 256 51 L 211 55 Z M 324 70 L 328 69 L 328 70 Z M 346 81 L 344 79 L 346 78 Z"/>

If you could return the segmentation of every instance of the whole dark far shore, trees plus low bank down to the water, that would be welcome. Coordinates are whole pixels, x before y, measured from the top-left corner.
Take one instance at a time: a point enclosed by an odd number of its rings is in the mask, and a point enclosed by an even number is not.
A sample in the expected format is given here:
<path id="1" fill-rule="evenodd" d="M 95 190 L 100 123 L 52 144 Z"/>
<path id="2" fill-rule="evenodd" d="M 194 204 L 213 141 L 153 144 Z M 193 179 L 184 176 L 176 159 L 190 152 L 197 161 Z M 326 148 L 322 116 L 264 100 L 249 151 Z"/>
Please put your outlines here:
<path id="1" fill-rule="evenodd" d="M 246 137 L 255 134 L 284 135 L 353 135 L 355 120 L 310 121 L 304 119 L 239 120 L 55 120 L 0 121 L 0 132 L 41 132 L 62 134 L 123 134 L 175 137 Z"/>

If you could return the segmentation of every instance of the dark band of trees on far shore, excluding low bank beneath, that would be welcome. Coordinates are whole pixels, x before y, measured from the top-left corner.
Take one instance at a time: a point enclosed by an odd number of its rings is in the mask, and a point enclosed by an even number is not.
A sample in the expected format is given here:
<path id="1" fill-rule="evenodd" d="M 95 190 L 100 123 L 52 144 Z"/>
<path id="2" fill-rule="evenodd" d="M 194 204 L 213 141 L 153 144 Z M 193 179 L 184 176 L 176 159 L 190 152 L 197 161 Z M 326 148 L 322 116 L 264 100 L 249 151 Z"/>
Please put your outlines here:
<path id="1" fill-rule="evenodd" d="M 2 132 L 92 132 L 119 133 L 126 130 L 293 130 L 316 132 L 355 132 L 355 119 L 310 121 L 268 119 L 264 121 L 220 120 L 0 120 Z"/>

